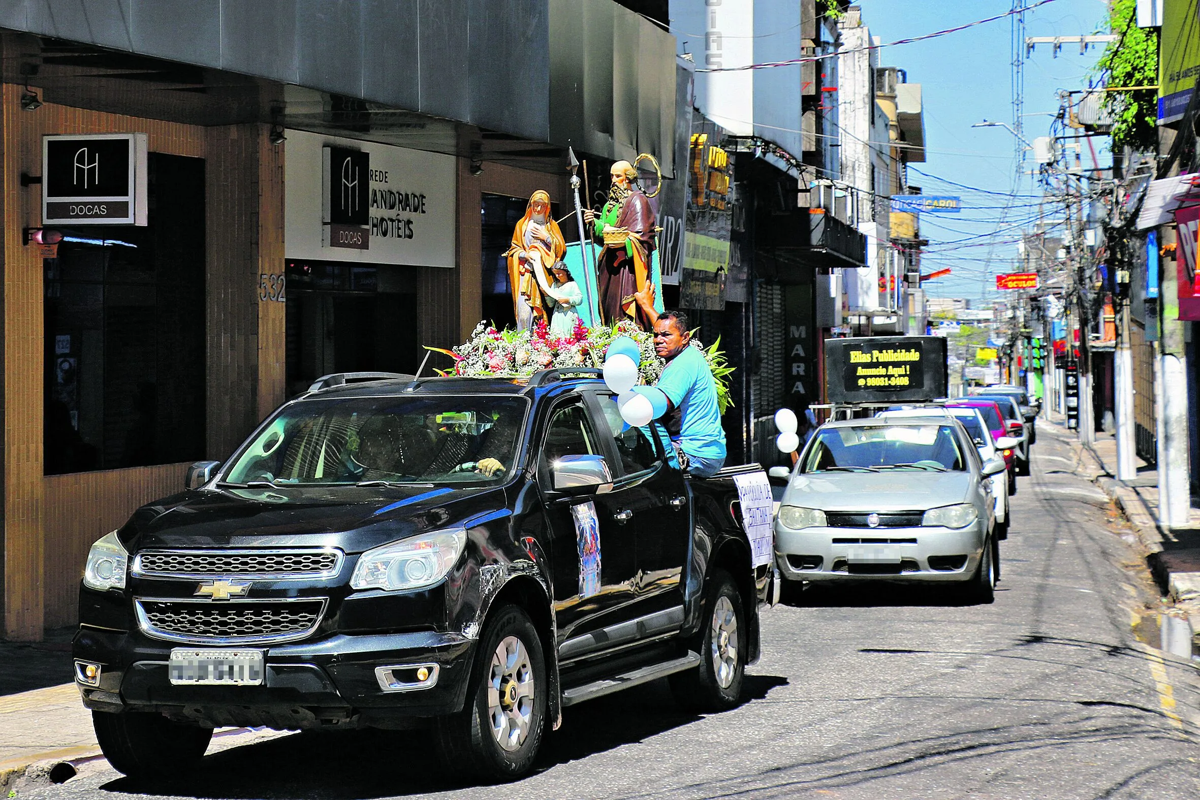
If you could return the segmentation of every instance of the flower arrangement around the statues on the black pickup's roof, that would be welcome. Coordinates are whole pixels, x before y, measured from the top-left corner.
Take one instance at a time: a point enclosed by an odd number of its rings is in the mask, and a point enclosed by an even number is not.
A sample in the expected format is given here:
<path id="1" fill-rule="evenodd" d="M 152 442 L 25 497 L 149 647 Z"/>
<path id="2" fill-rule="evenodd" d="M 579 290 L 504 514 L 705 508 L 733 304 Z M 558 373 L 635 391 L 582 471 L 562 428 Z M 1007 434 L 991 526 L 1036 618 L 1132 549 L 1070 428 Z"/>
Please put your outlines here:
<path id="1" fill-rule="evenodd" d="M 619 336 L 628 336 L 642 350 L 642 362 L 638 368 L 641 383 L 652 385 L 662 374 L 666 361 L 654 353 L 654 338 L 629 319 L 617 320 L 612 325 L 598 325 L 589 329 L 582 321 L 575 324 L 570 335 L 552 337 L 550 325 L 539 320 L 532 329 L 514 331 L 497 330 L 487 323 L 480 323 L 472 331 L 466 344 L 452 350 L 427 347 L 427 350 L 444 353 L 455 360 L 451 369 L 438 369 L 442 375 L 462 378 L 514 378 L 528 379 L 540 369 L 570 367 L 602 367 L 608 343 Z M 728 375 L 733 367 L 728 365 L 725 354 L 718 347 L 720 338 L 704 349 L 695 337 L 691 347 L 700 349 L 713 371 L 716 380 L 716 401 L 721 414 L 733 404 L 728 390 Z"/>

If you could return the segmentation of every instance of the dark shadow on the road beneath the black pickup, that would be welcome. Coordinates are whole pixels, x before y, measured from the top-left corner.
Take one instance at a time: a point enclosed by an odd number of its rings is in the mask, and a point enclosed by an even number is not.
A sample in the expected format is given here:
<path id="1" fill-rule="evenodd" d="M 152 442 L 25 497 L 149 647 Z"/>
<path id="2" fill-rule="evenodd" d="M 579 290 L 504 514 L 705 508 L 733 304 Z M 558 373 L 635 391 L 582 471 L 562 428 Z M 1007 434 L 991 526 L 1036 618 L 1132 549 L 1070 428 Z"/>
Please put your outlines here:
<path id="1" fill-rule="evenodd" d="M 779 675 L 746 675 L 743 702 L 786 684 Z M 666 680 L 565 709 L 534 775 L 700 718 L 680 709 Z M 462 787 L 445 770 L 430 769 L 437 758 L 427 730 L 299 733 L 209 756 L 186 776 L 155 782 L 121 777 L 101 788 L 140 795 L 370 800 Z"/>

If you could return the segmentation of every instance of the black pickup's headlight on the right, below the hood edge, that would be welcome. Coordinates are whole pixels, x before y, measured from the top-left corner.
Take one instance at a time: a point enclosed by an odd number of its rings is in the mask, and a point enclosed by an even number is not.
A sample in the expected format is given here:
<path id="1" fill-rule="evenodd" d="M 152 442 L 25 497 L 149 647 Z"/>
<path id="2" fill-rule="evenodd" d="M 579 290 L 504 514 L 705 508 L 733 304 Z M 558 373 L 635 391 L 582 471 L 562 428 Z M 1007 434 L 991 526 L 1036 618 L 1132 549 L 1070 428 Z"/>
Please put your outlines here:
<path id="1" fill-rule="evenodd" d="M 462 555 L 467 531 L 439 530 L 367 551 L 350 578 L 354 589 L 420 589 L 445 577 Z"/>

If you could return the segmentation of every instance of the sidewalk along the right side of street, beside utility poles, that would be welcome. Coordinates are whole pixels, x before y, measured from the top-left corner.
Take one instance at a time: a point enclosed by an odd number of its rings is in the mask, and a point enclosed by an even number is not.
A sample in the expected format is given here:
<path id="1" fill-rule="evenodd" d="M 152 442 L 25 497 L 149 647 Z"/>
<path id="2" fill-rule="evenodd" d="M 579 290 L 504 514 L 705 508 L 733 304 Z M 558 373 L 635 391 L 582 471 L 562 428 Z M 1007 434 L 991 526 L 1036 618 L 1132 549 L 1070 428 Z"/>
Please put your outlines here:
<path id="1" fill-rule="evenodd" d="M 1052 425 L 1058 425 L 1052 422 Z M 1158 524 L 1158 470 L 1138 458 L 1138 477 L 1118 481 L 1117 449 L 1112 434 L 1097 433 L 1096 441 L 1080 447 L 1080 474 L 1112 498 L 1138 530 L 1154 579 L 1165 594 L 1189 612 L 1200 628 L 1200 510 L 1192 510 L 1187 528 L 1164 529 Z"/>

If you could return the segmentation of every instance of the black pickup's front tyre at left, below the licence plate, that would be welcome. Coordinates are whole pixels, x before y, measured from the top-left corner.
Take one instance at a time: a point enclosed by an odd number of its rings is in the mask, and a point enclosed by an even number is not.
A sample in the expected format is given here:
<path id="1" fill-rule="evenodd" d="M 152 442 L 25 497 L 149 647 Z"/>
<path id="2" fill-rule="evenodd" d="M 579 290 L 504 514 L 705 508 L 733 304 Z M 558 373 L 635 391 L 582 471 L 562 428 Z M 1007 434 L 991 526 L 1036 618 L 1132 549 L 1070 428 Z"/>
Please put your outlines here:
<path id="1" fill-rule="evenodd" d="M 193 769 L 212 739 L 212 728 L 145 711 L 92 711 L 91 726 L 104 758 L 130 777 L 166 777 Z"/>

